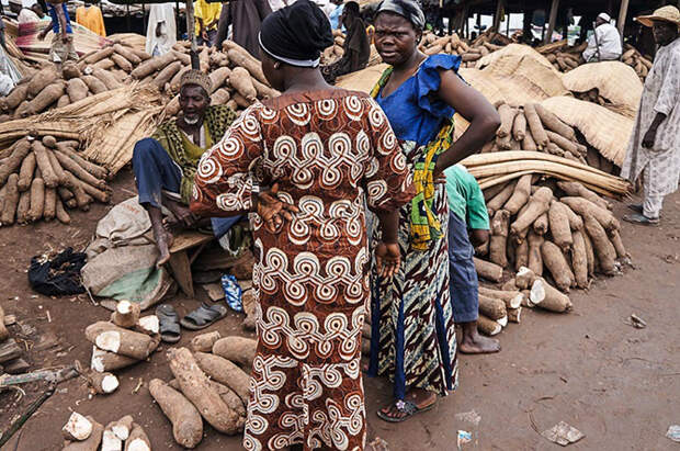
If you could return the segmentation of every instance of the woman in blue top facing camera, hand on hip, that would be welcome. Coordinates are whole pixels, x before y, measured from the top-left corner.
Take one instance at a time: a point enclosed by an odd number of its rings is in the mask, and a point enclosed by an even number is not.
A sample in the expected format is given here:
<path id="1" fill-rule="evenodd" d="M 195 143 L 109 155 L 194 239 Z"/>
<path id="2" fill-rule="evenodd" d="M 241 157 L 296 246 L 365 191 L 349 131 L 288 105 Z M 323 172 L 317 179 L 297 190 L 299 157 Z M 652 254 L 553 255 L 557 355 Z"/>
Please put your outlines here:
<path id="1" fill-rule="evenodd" d="M 392 280 L 374 280 L 369 373 L 394 382 L 395 402 L 377 413 L 387 421 L 431 408 L 438 395 L 456 387 L 442 172 L 478 151 L 500 124 L 494 106 L 456 75 L 458 56 L 418 50 L 423 26 L 422 10 L 412 0 L 384 0 L 376 11 L 375 46 L 390 67 L 372 94 L 413 167 L 417 189 L 400 211 L 404 263 Z M 471 125 L 453 142 L 456 111 Z"/>

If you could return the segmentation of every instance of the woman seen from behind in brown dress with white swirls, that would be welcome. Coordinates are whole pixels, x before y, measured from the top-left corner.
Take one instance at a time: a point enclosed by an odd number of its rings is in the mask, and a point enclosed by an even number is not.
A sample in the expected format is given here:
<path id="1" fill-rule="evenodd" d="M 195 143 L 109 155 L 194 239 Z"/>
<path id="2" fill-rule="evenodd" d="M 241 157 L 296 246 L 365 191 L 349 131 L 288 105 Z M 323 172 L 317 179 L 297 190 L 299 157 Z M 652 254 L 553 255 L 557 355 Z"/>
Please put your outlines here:
<path id="1" fill-rule="evenodd" d="M 376 255 L 390 277 L 399 262 L 398 208 L 413 189 L 377 103 L 324 81 L 319 50 L 331 44 L 328 20 L 308 0 L 268 16 L 262 69 L 283 93 L 247 109 L 203 156 L 195 178 L 193 212 L 258 213 L 248 450 L 364 446 L 364 205 L 381 219 Z M 267 194 L 256 194 L 267 185 Z"/>

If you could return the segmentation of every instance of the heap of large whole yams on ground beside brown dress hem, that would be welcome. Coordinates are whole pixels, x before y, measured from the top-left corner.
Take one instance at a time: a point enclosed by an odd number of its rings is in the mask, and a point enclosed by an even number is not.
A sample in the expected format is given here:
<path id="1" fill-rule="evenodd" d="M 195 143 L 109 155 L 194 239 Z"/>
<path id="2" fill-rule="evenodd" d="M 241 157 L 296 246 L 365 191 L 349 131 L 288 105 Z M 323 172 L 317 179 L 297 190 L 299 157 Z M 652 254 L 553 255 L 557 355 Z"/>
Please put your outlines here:
<path id="1" fill-rule="evenodd" d="M 256 340 L 223 338 L 213 331 L 194 337 L 191 349 L 168 350 L 174 379 L 151 380 L 149 392 L 180 446 L 194 448 L 201 442 L 203 420 L 222 433 L 242 432 L 256 347 Z"/>

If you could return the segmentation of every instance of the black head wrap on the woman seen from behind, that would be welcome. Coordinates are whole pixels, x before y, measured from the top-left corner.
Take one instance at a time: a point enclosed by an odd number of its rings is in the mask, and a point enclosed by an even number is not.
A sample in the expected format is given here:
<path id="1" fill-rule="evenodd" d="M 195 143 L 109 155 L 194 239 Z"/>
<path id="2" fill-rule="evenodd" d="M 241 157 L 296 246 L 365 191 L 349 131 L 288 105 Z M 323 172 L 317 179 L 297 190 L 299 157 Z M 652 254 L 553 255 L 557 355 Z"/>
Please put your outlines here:
<path id="1" fill-rule="evenodd" d="M 309 0 L 298 0 L 264 19 L 260 46 L 291 66 L 317 67 L 321 52 L 333 44 L 330 22 Z"/>

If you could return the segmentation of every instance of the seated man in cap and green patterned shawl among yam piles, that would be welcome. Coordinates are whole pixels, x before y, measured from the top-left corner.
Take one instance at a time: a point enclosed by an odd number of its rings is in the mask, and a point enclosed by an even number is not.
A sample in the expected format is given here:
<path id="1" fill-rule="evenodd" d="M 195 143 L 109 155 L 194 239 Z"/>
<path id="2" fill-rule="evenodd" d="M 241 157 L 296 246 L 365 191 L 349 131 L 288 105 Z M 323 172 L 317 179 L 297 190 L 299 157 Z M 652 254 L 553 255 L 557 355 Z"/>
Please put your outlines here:
<path id="1" fill-rule="evenodd" d="M 211 79 L 190 70 L 180 82 L 181 114 L 159 125 L 150 138 L 135 145 L 133 169 L 139 203 L 149 212 L 160 257 L 160 268 L 170 259 L 172 235 L 163 226 L 161 206 L 170 211 L 179 227 L 194 227 L 197 218 L 189 211 L 199 159 L 222 139 L 236 113 L 225 105 L 211 106 Z M 226 218 L 230 224 L 238 221 Z M 224 230 L 224 224 L 213 228 Z"/>

